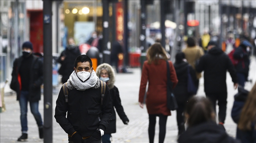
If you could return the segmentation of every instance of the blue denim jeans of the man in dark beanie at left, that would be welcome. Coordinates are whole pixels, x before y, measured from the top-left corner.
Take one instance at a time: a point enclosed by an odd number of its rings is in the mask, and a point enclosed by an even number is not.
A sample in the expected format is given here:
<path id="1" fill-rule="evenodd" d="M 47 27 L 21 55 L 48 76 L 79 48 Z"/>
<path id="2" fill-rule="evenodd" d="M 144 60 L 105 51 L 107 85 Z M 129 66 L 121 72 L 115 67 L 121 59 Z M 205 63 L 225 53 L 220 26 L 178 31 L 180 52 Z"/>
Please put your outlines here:
<path id="1" fill-rule="evenodd" d="M 28 91 L 21 91 L 20 93 L 20 122 L 21 122 L 21 131 L 28 131 L 28 120 L 27 120 L 27 112 L 28 112 Z M 36 119 L 37 126 L 43 126 L 43 121 L 41 114 L 38 111 L 39 102 L 29 102 L 31 113 L 34 115 Z"/>

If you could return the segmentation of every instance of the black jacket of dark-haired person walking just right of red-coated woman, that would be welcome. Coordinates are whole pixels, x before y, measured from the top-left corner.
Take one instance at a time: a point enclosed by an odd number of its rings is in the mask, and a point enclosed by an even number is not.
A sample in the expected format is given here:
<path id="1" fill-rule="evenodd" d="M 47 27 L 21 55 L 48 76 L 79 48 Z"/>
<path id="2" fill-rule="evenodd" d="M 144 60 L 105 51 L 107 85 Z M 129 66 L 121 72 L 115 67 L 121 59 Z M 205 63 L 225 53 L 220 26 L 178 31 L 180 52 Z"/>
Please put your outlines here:
<path id="1" fill-rule="evenodd" d="M 189 65 L 187 62 L 184 62 L 184 61 L 182 63 L 174 63 L 174 68 L 176 70 L 176 74 L 179 82 L 177 86 L 174 88 L 173 92 L 178 103 L 186 102 L 187 99 L 191 96 L 189 93 L 187 93 L 188 67 L 190 70 L 190 75 L 192 76 L 193 81 L 195 83 L 196 81 L 195 70 L 192 68 L 191 65 Z"/>

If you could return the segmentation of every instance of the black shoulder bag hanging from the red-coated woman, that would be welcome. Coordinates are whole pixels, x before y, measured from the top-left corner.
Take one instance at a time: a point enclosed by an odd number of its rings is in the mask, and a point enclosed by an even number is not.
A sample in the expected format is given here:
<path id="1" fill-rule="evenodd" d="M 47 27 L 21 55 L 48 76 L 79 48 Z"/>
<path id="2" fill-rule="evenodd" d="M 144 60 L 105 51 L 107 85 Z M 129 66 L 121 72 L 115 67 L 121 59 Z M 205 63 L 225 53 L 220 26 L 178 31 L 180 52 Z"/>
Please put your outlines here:
<path id="1" fill-rule="evenodd" d="M 177 104 L 177 101 L 176 101 L 176 98 L 172 92 L 172 86 L 173 86 L 173 83 L 171 82 L 171 73 L 170 73 L 170 65 L 169 65 L 169 62 L 168 60 L 166 61 L 166 67 L 167 67 L 167 108 L 169 110 L 176 110 L 178 109 L 178 104 Z"/>

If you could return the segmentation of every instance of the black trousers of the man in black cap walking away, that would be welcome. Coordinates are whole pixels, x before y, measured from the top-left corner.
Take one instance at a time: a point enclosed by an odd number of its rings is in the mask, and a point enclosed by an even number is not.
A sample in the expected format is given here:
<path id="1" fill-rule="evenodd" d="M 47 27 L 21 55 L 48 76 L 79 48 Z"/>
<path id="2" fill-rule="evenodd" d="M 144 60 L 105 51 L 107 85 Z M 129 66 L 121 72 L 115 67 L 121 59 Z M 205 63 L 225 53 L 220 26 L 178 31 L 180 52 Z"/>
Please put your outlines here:
<path id="1" fill-rule="evenodd" d="M 219 106 L 219 122 L 224 123 L 227 110 L 227 93 L 206 93 L 206 97 L 212 102 L 213 109 L 216 113 L 216 101 Z"/>

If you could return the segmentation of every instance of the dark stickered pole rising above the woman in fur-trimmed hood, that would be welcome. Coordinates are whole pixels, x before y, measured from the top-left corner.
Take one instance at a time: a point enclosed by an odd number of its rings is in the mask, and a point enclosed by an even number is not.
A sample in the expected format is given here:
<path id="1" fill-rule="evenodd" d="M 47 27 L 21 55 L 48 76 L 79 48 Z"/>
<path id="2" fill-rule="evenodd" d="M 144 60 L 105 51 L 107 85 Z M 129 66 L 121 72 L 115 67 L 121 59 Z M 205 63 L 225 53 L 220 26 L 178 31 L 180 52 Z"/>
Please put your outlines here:
<path id="1" fill-rule="evenodd" d="M 103 62 L 110 64 L 110 42 L 109 42 L 109 1 L 102 1 L 103 4 Z"/>

